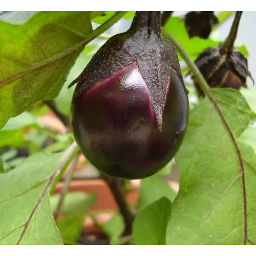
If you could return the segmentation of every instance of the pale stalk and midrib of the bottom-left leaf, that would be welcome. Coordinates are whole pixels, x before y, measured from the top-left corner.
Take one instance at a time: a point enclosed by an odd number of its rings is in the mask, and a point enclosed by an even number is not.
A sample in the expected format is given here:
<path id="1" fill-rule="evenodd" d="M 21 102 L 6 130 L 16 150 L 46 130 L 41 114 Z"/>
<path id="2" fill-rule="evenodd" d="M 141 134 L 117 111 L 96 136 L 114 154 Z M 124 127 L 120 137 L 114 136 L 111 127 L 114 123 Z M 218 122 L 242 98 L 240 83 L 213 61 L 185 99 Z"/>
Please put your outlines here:
<path id="1" fill-rule="evenodd" d="M 78 146 L 76 145 L 75 142 L 73 142 L 71 144 L 71 146 L 69 146 L 69 148 L 65 151 L 64 156 L 62 157 L 62 160 L 60 161 L 60 163 L 57 166 L 53 175 L 49 178 L 49 181 L 46 184 L 45 189 L 43 190 L 41 196 L 39 197 L 35 208 L 33 209 L 31 215 L 29 216 L 28 220 L 26 221 L 26 223 L 24 225 L 24 229 L 22 230 L 22 233 L 21 233 L 20 237 L 18 238 L 17 245 L 20 245 L 20 243 L 22 242 L 22 239 L 24 238 L 24 236 L 25 236 L 25 234 L 26 234 L 26 232 L 29 228 L 29 225 L 30 225 L 31 221 L 32 221 L 33 217 L 35 216 L 35 214 L 37 212 L 37 209 L 41 205 L 45 196 L 48 195 L 49 190 L 50 190 L 52 184 L 54 183 L 55 178 L 57 177 L 57 175 L 60 173 L 60 171 L 62 169 L 67 168 L 67 166 L 73 160 L 74 156 L 77 154 L 77 149 L 78 149 Z"/>

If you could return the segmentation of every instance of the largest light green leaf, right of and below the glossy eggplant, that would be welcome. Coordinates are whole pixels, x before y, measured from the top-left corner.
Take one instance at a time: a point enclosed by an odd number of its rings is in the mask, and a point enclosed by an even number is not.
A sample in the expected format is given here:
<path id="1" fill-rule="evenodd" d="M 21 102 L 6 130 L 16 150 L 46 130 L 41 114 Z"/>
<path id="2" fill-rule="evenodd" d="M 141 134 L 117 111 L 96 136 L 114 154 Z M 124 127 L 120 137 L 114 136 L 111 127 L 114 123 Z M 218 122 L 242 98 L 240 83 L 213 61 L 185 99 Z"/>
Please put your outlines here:
<path id="1" fill-rule="evenodd" d="M 237 140 L 254 113 L 238 91 L 212 91 Z M 168 245 L 239 245 L 244 238 L 256 242 L 256 155 L 252 148 L 238 146 L 246 195 L 238 153 L 216 109 L 205 99 L 191 111 L 176 155 L 181 181 L 167 226 Z"/>

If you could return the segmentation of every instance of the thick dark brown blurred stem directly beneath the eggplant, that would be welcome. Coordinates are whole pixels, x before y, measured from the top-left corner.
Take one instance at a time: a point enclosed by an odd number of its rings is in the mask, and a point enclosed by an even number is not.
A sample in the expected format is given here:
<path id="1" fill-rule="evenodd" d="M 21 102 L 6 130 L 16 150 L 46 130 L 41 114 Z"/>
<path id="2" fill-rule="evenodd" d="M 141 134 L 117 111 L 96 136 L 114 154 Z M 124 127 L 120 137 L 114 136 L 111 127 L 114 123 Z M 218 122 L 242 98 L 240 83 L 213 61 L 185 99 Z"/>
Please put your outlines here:
<path id="1" fill-rule="evenodd" d="M 109 185 L 112 195 L 115 198 L 115 201 L 119 207 L 120 213 L 124 218 L 126 227 L 123 232 L 123 236 L 129 236 L 132 234 L 132 224 L 134 220 L 134 215 L 131 213 L 125 195 L 122 191 L 122 180 L 111 178 L 104 174 L 101 174 L 101 177 Z"/>

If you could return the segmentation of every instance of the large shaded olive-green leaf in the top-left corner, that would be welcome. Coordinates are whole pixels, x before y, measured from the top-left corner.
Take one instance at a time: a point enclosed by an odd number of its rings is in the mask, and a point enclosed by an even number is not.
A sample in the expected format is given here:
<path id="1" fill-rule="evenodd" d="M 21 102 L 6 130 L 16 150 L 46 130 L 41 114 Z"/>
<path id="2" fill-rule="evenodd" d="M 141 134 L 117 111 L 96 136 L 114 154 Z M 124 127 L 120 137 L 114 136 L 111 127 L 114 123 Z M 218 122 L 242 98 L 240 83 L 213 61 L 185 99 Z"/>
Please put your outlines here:
<path id="1" fill-rule="evenodd" d="M 90 14 L 91 11 L 39 12 L 22 25 L 0 20 L 0 127 L 38 100 L 57 96 L 82 49 L 57 61 L 53 57 L 91 34 Z M 28 72 L 42 62 L 45 65 Z"/>

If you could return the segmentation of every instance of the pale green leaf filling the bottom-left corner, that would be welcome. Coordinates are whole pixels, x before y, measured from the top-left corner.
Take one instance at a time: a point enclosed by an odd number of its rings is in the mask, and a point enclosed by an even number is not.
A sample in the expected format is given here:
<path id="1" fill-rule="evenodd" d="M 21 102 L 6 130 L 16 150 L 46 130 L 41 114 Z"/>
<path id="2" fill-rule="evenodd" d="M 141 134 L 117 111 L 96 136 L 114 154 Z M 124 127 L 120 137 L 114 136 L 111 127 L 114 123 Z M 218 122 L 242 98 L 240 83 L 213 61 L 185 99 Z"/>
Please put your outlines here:
<path id="1" fill-rule="evenodd" d="M 42 197 L 61 156 L 37 153 L 14 170 L 0 174 L 1 245 L 15 245 L 21 236 L 22 245 L 62 244 L 49 196 Z"/>

